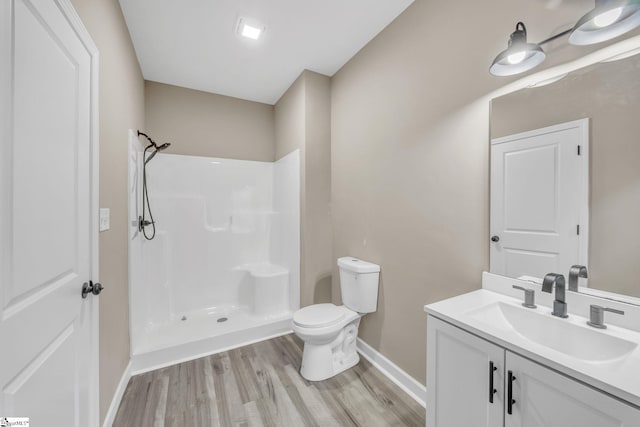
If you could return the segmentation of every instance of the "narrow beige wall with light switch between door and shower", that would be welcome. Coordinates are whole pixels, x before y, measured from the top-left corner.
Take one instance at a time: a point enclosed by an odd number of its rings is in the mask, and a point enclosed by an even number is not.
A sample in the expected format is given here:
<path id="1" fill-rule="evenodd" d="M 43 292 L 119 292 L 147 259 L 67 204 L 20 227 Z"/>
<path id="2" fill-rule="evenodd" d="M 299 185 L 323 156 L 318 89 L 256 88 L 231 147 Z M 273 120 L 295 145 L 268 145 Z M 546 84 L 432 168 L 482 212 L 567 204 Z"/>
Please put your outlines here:
<path id="1" fill-rule="evenodd" d="M 100 420 L 129 362 L 127 287 L 128 129 L 144 127 L 144 80 L 117 0 L 73 0 L 100 51 Z"/>

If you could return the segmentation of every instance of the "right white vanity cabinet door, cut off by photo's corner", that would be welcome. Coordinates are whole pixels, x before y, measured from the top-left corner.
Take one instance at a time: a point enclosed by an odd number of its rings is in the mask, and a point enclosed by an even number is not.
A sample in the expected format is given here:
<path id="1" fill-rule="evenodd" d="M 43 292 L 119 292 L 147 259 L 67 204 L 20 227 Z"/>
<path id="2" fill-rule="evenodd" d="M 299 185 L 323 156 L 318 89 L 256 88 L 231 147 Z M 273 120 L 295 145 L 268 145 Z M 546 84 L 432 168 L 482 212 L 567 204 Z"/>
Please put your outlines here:
<path id="1" fill-rule="evenodd" d="M 505 427 L 637 427 L 640 411 L 537 363 L 506 352 L 505 381 L 512 383 L 512 413 Z M 505 383 L 508 392 L 509 384 Z"/>

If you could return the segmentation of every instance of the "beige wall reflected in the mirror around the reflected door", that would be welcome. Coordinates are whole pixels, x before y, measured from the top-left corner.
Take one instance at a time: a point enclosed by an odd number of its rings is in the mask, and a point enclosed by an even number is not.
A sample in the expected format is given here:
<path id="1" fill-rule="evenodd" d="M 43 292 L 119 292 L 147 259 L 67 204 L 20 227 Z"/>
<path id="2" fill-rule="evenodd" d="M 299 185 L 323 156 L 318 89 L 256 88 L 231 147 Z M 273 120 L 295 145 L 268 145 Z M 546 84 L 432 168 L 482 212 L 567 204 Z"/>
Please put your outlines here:
<path id="1" fill-rule="evenodd" d="M 640 297 L 640 58 L 492 102 L 497 138 L 590 119 L 589 286 Z M 566 274 L 566 273 L 565 273 Z"/>

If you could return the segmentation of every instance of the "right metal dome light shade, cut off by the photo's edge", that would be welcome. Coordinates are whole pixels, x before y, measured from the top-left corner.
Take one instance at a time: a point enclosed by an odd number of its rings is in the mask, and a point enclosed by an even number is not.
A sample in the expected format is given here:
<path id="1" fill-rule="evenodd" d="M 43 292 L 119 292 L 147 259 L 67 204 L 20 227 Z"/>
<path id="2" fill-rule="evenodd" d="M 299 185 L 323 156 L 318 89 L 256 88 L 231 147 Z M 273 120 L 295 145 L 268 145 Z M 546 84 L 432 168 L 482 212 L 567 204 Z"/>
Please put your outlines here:
<path id="1" fill-rule="evenodd" d="M 640 0 L 596 0 L 576 23 L 569 43 L 589 45 L 611 40 L 640 26 Z"/>

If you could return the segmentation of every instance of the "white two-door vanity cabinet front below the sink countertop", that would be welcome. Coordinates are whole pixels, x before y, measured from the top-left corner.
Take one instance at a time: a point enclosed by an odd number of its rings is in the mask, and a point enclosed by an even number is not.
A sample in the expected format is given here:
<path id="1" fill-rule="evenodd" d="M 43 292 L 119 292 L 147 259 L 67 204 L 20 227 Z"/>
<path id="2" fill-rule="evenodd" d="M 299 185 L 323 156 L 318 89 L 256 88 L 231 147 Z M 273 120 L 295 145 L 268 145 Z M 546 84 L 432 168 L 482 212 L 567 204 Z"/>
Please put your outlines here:
<path id="1" fill-rule="evenodd" d="M 429 316 L 427 426 L 636 427 L 640 410 Z"/>

